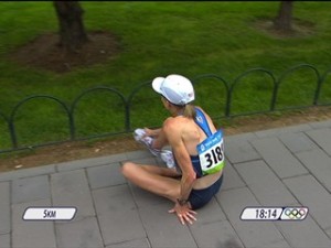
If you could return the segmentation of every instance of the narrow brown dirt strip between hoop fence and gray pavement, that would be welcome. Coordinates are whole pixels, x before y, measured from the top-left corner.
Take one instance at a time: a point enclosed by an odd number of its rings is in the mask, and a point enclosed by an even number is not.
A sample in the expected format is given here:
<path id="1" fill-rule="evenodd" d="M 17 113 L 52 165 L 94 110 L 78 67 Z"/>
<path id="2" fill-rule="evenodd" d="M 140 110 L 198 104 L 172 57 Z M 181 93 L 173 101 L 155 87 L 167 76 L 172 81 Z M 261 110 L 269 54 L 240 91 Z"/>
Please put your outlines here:
<path id="1" fill-rule="evenodd" d="M 331 107 L 313 107 L 306 110 L 282 112 L 281 115 L 273 114 L 236 117 L 224 121 L 228 123 L 226 123 L 223 129 L 226 136 L 231 136 L 329 119 L 331 119 Z M 131 134 L 99 141 L 67 142 L 58 145 L 7 154 L 7 158 L 0 159 L 0 172 L 117 154 L 141 149 L 143 149 L 143 147 L 137 143 Z"/>

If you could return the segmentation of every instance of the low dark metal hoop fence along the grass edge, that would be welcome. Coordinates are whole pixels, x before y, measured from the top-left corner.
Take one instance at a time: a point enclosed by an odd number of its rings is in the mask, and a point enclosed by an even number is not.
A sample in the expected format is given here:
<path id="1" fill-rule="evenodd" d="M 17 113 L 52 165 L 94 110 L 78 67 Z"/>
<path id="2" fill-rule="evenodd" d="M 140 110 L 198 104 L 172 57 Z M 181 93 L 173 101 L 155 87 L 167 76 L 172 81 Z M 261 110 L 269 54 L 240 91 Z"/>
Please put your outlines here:
<path id="1" fill-rule="evenodd" d="M 308 88 L 307 91 L 308 95 L 311 97 L 303 96 L 306 99 L 306 103 L 302 104 L 282 104 L 281 103 L 281 97 L 280 97 L 280 89 L 284 87 L 285 82 L 296 72 L 298 71 L 305 71 L 310 72 L 312 74 L 313 79 L 309 80 L 309 84 L 311 84 Z M 266 77 L 264 79 L 264 86 L 268 84 L 269 86 L 266 88 L 269 95 L 269 98 L 265 99 L 265 103 L 267 103 L 268 107 L 260 109 L 259 108 L 259 99 L 258 96 L 253 98 L 257 101 L 257 108 L 254 110 L 248 110 L 248 111 L 239 111 L 235 112 L 233 104 L 238 103 L 236 99 L 236 90 L 245 90 L 247 86 L 247 83 L 245 79 L 247 77 L 252 76 L 253 74 L 259 74 L 264 75 Z M 217 107 L 213 107 L 213 109 L 216 111 L 212 115 L 212 118 L 214 120 L 221 119 L 221 118 L 228 118 L 228 117 L 235 117 L 235 116 L 248 116 L 248 115 L 254 115 L 254 114 L 266 114 L 266 112 L 273 112 L 273 111 L 279 111 L 279 110 L 285 110 L 285 109 L 299 109 L 299 108 L 307 108 L 307 107 L 312 107 L 312 106 L 329 106 L 331 105 L 331 84 L 328 85 L 328 76 L 331 74 L 331 68 L 321 74 L 314 66 L 309 65 L 309 64 L 300 64 L 297 66 L 293 66 L 286 72 L 284 72 L 278 78 L 274 75 L 268 69 L 265 68 L 252 68 L 246 71 L 245 73 L 241 74 L 237 76 L 232 83 L 228 83 L 224 78 L 222 78 L 218 75 L 215 74 L 205 74 L 205 75 L 200 75 L 195 78 L 192 79 L 194 87 L 204 87 L 209 88 L 211 86 L 207 86 L 209 80 L 216 82 L 218 86 L 221 85 L 223 87 L 223 94 L 224 97 L 215 97 L 215 105 Z M 299 82 L 300 83 L 300 82 Z M 97 86 L 90 89 L 84 90 L 81 95 L 78 95 L 72 104 L 67 105 L 63 100 L 53 97 L 53 96 L 47 96 L 47 95 L 36 95 L 36 96 L 30 96 L 21 101 L 19 101 L 13 109 L 11 110 L 9 116 L 6 116 L 1 109 L 0 109 L 0 123 L 2 121 L 3 126 L 7 127 L 7 132 L 10 136 L 10 141 L 11 141 L 11 148 L 6 148 L 3 150 L 0 149 L 0 153 L 6 153 L 6 152 L 11 152 L 11 151 L 18 151 L 22 149 L 29 149 L 32 147 L 42 147 L 42 145 L 47 145 L 47 144 L 54 144 L 54 143 L 60 143 L 60 142 L 65 142 L 65 141 L 74 141 L 74 140 L 83 140 L 83 139 L 92 139 L 92 138 L 97 138 L 97 137 L 106 137 L 106 136 L 115 136 L 115 134 L 121 134 L 121 133 L 128 133 L 132 131 L 132 121 L 131 121 L 131 110 L 135 107 L 135 99 L 137 98 L 137 95 L 141 93 L 142 88 L 149 87 L 150 88 L 151 82 L 146 82 L 143 84 L 140 84 L 138 87 L 136 87 L 128 97 L 125 97 L 122 93 L 118 91 L 115 88 L 111 87 L 105 87 L 105 86 Z M 249 85 L 255 84 L 255 80 L 250 80 Z M 217 87 L 218 87 L 217 86 Z M 303 87 L 303 86 L 302 86 Z M 307 87 L 307 84 L 306 86 Z M 122 108 L 120 111 L 124 115 L 124 125 L 122 129 L 120 131 L 116 132 L 107 132 L 107 133 L 102 133 L 102 134 L 86 134 L 85 137 L 77 137 L 76 131 L 76 116 L 75 111 L 77 108 L 78 103 L 82 100 L 83 97 L 92 94 L 93 91 L 96 90 L 103 90 L 107 91 L 110 95 L 115 96 L 118 98 L 118 100 L 121 103 L 119 106 Z M 290 85 L 287 86 L 287 93 L 285 94 L 297 94 L 297 93 L 290 93 Z M 321 100 L 321 93 L 324 93 L 324 99 Z M 199 91 L 197 91 L 199 95 Z M 301 96 L 302 97 L 302 96 Z M 67 130 L 68 130 L 68 137 L 65 140 L 60 140 L 60 141 L 54 141 L 54 142 L 46 142 L 46 143 L 38 143 L 38 144 L 31 144 L 31 145 L 20 145 L 19 143 L 19 137 L 17 132 L 17 127 L 15 127 L 15 121 L 17 121 L 17 115 L 18 111 L 24 106 L 25 104 L 32 101 L 33 99 L 41 98 L 45 100 L 51 100 L 53 103 L 56 103 L 65 112 L 66 116 L 66 121 L 67 121 Z M 293 98 L 296 98 L 296 95 L 293 95 Z M 309 99 L 308 99 L 309 98 Z M 307 101 L 308 100 L 308 101 Z M 222 101 L 222 103 L 221 103 Z M 223 108 L 218 107 L 222 106 Z M 220 110 L 220 111 L 218 111 Z"/>

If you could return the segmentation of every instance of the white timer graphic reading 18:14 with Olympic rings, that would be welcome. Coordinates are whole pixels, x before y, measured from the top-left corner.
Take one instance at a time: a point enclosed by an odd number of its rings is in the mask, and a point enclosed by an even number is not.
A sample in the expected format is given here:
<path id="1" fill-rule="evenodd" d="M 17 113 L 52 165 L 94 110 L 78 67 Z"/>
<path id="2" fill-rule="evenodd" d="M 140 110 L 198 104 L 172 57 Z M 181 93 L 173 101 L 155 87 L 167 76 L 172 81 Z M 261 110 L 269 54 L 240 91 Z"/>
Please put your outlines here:
<path id="1" fill-rule="evenodd" d="M 308 207 L 245 207 L 242 212 L 242 220 L 303 220 L 307 217 Z"/>

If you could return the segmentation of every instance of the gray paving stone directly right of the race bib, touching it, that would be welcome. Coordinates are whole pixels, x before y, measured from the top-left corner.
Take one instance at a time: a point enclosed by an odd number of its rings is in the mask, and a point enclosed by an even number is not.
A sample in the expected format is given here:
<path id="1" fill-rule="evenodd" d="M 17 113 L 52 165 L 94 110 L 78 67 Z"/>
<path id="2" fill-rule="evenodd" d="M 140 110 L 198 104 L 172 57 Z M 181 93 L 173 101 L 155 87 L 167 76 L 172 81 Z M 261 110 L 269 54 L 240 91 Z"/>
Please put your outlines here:
<path id="1" fill-rule="evenodd" d="M 253 145 L 245 139 L 225 139 L 225 154 L 232 163 L 260 159 Z"/>

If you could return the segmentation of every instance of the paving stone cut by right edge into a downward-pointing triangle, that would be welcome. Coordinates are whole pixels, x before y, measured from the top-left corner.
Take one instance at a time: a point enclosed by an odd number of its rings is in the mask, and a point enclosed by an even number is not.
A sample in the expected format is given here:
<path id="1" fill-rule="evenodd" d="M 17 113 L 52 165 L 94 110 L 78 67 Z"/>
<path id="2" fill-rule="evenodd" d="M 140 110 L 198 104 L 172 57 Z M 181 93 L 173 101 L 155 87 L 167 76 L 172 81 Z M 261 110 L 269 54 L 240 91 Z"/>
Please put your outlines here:
<path id="1" fill-rule="evenodd" d="M 321 150 L 301 152 L 297 157 L 330 193 L 331 158 Z"/>

